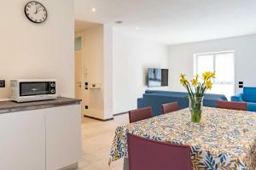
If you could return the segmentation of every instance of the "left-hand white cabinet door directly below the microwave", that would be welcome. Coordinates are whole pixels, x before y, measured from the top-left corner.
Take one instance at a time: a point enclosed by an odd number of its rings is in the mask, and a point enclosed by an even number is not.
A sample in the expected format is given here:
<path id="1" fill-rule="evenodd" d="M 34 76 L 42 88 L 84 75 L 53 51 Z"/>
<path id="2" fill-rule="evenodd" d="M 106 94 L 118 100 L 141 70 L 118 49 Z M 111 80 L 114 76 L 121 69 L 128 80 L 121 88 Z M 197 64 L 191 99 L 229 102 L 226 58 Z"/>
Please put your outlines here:
<path id="1" fill-rule="evenodd" d="M 45 170 L 43 110 L 0 114 L 0 169 Z"/>

